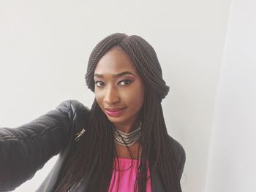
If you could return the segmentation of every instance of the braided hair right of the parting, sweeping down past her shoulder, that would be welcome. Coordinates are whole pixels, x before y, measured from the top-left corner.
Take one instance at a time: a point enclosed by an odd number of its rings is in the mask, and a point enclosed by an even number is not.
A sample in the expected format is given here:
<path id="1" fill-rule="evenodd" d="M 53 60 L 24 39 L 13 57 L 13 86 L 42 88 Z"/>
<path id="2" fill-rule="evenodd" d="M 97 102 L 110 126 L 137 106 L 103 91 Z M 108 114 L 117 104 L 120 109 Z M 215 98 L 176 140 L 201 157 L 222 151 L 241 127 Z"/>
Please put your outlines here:
<path id="1" fill-rule="evenodd" d="M 176 158 L 173 155 L 173 149 L 168 141 L 167 129 L 161 106 L 161 101 L 167 95 L 169 87 L 165 85 L 165 81 L 162 79 L 162 69 L 159 65 L 157 54 L 154 52 L 151 45 L 146 43 L 144 39 L 138 36 L 130 36 L 130 39 L 124 39 L 124 41 L 122 41 L 118 46 L 120 46 L 125 53 L 129 55 L 129 58 L 132 59 L 136 69 L 138 72 L 140 72 L 141 76 L 145 80 L 146 87 L 151 87 L 149 88 L 151 91 L 146 93 L 146 97 L 148 98 L 145 99 L 145 112 L 143 112 L 143 115 L 146 115 L 144 126 L 149 126 L 150 128 L 142 129 L 145 131 L 145 133 L 142 131 L 144 139 L 141 141 L 141 168 L 139 169 L 138 173 L 138 180 L 141 178 L 141 180 L 138 182 L 140 186 L 139 191 L 146 191 L 146 161 L 148 159 L 152 164 L 151 166 L 153 169 L 163 171 L 159 172 L 159 174 L 162 174 L 162 180 L 164 181 L 166 188 L 176 188 L 178 191 L 180 190 L 180 186 L 177 179 Z M 147 101 L 149 101 L 148 104 L 146 103 Z M 153 133 L 152 130 L 154 131 Z M 152 135 L 154 135 L 156 138 L 153 139 L 154 145 L 157 147 L 155 150 L 151 150 L 154 147 L 151 142 Z M 157 159 L 154 159 L 154 155 L 151 155 L 150 151 L 158 153 Z M 176 170 L 174 174 L 168 174 L 168 172 L 171 173 L 173 170 Z"/>

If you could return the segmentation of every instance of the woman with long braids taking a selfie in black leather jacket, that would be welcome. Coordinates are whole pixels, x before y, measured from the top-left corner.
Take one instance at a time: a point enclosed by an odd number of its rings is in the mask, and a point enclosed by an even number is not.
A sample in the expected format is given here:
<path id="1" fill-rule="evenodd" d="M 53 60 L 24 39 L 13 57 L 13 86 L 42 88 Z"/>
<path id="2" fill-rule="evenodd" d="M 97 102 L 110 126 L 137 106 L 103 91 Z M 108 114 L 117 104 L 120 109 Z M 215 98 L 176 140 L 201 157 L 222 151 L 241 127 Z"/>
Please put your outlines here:
<path id="1" fill-rule="evenodd" d="M 59 153 L 38 191 L 181 191 L 185 153 L 168 136 L 169 91 L 153 47 L 112 34 L 92 51 L 91 110 L 64 101 L 19 128 L 0 129 L 0 191 L 16 188 Z"/>

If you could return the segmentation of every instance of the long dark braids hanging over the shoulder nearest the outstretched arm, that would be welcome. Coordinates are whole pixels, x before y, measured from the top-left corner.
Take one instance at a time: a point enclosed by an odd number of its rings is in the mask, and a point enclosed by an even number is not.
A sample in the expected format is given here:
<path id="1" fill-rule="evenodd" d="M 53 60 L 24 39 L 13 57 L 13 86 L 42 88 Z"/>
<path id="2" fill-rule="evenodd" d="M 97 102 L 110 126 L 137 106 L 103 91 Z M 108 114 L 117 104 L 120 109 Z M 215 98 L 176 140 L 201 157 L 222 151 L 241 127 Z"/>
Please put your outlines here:
<path id="1" fill-rule="evenodd" d="M 112 124 L 100 110 L 97 101 L 91 107 L 89 126 L 81 137 L 78 146 L 69 154 L 64 167 L 64 177 L 56 191 L 67 191 L 73 184 L 78 184 L 93 164 L 97 164 L 89 183 L 88 191 L 107 191 L 113 166 Z M 96 161 L 97 160 L 97 161 Z M 95 183 L 105 180 L 101 185 Z"/>

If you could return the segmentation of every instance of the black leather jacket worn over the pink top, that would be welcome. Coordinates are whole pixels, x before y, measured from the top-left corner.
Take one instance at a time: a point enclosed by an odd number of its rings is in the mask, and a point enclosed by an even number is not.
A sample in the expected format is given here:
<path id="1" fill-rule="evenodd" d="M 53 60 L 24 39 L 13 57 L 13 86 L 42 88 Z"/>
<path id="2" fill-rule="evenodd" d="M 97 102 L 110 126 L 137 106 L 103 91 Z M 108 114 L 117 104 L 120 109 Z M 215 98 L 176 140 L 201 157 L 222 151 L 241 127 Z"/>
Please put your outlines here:
<path id="1" fill-rule="evenodd" d="M 31 179 L 37 170 L 54 155 L 59 158 L 53 169 L 37 191 L 54 191 L 59 183 L 59 175 L 75 135 L 80 132 L 89 118 L 89 109 L 78 101 L 63 101 L 52 110 L 18 128 L 0 128 L 0 191 L 12 191 L 26 180 Z M 184 169 L 183 147 L 171 138 L 178 157 L 178 174 Z M 157 172 L 152 174 L 152 191 L 165 191 Z M 90 175 L 90 173 L 89 173 Z M 71 191 L 86 191 L 86 180 L 74 186 Z"/>

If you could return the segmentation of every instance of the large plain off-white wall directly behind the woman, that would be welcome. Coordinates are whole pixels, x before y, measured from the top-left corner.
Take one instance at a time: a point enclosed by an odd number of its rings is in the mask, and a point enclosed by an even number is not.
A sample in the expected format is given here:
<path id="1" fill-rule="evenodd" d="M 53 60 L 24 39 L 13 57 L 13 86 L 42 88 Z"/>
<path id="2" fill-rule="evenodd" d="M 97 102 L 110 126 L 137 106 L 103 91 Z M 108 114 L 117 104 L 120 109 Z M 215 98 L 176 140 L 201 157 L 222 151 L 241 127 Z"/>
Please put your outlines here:
<path id="1" fill-rule="evenodd" d="M 94 45 L 116 31 L 153 45 L 170 93 L 171 136 L 187 152 L 182 188 L 204 191 L 230 0 L 0 1 L 0 126 L 15 127 L 65 99 L 91 106 L 84 81 Z M 55 159 L 17 191 L 34 191 Z"/>

